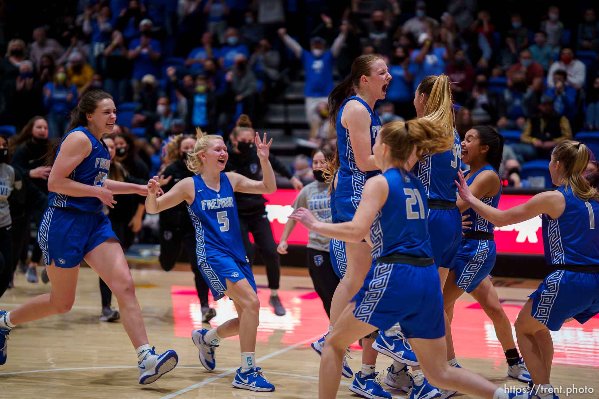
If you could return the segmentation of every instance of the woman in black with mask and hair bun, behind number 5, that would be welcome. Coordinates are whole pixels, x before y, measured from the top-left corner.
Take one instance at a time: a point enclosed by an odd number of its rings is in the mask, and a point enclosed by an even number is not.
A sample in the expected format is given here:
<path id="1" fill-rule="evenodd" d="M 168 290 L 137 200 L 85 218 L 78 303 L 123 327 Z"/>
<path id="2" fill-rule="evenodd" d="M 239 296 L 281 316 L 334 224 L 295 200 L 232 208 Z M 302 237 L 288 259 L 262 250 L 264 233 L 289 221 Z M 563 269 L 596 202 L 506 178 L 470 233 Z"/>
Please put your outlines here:
<path id="1" fill-rule="evenodd" d="M 253 180 L 262 179 L 260 160 L 253 144 L 254 136 L 255 132 L 252 129 L 249 117 L 241 115 L 237 121 L 237 127 L 231 132 L 231 139 L 227 144 L 229 160 L 227 161 L 225 172 L 234 171 Z M 289 170 L 273 154 L 268 157 L 268 160 L 275 172 L 290 179 L 296 190 L 301 190 L 303 187 L 301 181 L 292 176 Z M 281 304 L 281 300 L 277 294 L 281 266 L 279 263 L 279 254 L 277 253 L 277 244 L 274 242 L 273 230 L 270 227 L 266 213 L 265 203 L 267 200 L 262 194 L 235 192 L 235 201 L 237 202 L 243 246 L 246 248 L 246 253 L 251 262 L 253 251 L 248 233 L 252 233 L 256 242 L 256 248 L 260 251 L 266 264 L 268 288 L 271 290 L 271 297 L 268 303 L 274 307 L 276 315 L 283 316 L 285 315 L 285 308 Z"/>

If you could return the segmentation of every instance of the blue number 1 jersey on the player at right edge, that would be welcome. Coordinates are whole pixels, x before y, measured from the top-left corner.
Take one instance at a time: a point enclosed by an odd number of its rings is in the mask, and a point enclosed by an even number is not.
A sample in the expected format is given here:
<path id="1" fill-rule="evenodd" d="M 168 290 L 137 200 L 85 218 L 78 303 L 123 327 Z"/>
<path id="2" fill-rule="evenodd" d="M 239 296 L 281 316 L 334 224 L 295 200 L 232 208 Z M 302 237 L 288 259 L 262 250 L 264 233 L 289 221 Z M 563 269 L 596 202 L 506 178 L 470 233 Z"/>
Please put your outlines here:
<path id="1" fill-rule="evenodd" d="M 583 201 L 563 185 L 556 188 L 564 194 L 564 213 L 550 219 L 542 215 L 543 246 L 549 265 L 599 265 L 599 203 Z"/>

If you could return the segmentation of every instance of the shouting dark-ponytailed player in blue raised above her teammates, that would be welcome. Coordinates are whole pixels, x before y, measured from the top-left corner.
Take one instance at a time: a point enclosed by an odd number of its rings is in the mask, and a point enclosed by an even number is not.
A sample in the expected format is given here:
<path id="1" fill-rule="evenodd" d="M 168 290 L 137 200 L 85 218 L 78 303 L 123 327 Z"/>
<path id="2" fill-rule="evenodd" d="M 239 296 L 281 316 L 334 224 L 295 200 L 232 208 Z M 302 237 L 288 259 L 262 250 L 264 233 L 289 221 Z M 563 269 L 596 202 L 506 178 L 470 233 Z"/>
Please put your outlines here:
<path id="1" fill-rule="evenodd" d="M 374 139 L 380 130 L 380 119 L 374 111 L 374 104 L 379 99 L 385 99 L 389 81 L 391 75 L 381 56 L 362 55 L 353 61 L 351 75 L 329 95 L 331 124 L 337 130 L 337 151 L 326 175 L 330 179 L 338 170 L 335 202 L 331 202 L 331 207 L 335 208 L 340 221 L 352 219 L 361 201 L 365 182 L 376 175 L 379 169 L 372 154 Z M 331 302 L 329 332 L 347 301 L 358 292 L 364 282 L 367 269 L 363 269 L 361 265 L 370 266 L 372 263 L 370 245 L 365 240 L 346 243 L 346 260 L 347 273 L 337 285 Z M 312 348 L 318 354 L 322 352 L 325 337 L 326 335 L 312 343 Z M 373 340 L 370 334 L 362 339 L 362 369 L 355 374 L 350 391 L 365 398 L 391 398 L 376 379 L 377 352 L 372 349 Z M 343 376 L 353 376 L 346 360 Z"/>

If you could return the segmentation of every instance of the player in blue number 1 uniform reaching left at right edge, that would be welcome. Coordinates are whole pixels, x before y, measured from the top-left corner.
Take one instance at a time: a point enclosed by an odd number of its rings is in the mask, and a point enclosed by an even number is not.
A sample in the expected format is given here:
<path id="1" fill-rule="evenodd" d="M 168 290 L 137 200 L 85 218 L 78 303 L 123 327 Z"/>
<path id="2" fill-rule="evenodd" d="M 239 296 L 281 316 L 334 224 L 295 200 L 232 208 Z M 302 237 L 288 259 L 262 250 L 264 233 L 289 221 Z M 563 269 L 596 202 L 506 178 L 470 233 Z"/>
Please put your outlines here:
<path id="1" fill-rule="evenodd" d="M 495 226 L 529 220 L 541 214 L 545 260 L 555 272 L 529 296 L 516 319 L 516 338 L 533 379 L 530 397 L 557 399 L 549 382 L 553 341 L 572 318 L 581 324 L 599 313 L 599 194 L 583 177 L 590 159 L 586 145 L 562 141 L 553 149 L 549 172 L 558 188 L 526 203 L 500 211 L 473 195 L 459 175 L 459 196 Z"/>

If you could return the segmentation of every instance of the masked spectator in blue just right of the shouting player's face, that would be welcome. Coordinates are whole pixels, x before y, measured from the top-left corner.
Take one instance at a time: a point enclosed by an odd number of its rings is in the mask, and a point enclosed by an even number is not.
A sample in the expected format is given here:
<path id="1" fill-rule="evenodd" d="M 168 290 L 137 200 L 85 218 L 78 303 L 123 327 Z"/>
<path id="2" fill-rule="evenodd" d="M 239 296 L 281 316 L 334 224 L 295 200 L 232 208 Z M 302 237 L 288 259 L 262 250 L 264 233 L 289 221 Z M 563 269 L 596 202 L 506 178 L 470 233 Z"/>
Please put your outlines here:
<path id="1" fill-rule="evenodd" d="M 412 63 L 410 57 L 407 56 L 408 50 L 406 47 L 397 47 L 389 60 L 389 74 L 391 81 L 387 87 L 386 100 L 394 104 L 397 112 L 406 118 L 416 116 L 414 109 L 414 73 L 416 65 Z"/>

